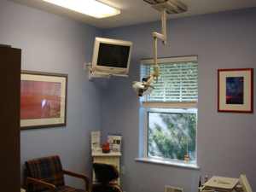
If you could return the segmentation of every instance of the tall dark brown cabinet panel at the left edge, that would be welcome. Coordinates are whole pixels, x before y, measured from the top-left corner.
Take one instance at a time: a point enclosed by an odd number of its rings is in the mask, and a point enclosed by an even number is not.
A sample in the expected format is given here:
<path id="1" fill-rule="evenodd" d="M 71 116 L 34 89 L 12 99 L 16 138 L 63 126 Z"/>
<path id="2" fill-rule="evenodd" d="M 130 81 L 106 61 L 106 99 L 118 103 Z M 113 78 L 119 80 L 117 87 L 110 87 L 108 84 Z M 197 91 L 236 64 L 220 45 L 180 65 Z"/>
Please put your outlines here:
<path id="1" fill-rule="evenodd" d="M 1 191 L 20 191 L 20 49 L 0 48 Z"/>

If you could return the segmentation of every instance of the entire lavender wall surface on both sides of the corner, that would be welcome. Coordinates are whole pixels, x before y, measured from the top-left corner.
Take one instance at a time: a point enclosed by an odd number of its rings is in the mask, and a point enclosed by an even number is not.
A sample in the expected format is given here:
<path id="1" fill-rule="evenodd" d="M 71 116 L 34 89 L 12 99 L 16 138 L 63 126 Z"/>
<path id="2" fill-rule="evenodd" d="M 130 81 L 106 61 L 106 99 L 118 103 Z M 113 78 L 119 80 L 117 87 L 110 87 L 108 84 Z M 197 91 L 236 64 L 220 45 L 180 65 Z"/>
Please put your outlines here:
<path id="1" fill-rule="evenodd" d="M 162 192 L 165 184 L 196 191 L 199 175 L 237 177 L 245 172 L 256 189 L 255 114 L 217 113 L 217 69 L 254 67 L 256 9 L 170 20 L 160 56 L 199 55 L 198 162 L 200 171 L 138 163 L 139 102 L 131 82 L 139 61 L 152 56 L 150 33 L 160 23 L 99 31 L 57 15 L 0 1 L 0 43 L 22 49 L 22 69 L 68 73 L 67 128 L 21 131 L 21 160 L 60 154 L 63 166 L 90 174 L 90 131 L 124 136 L 122 175 L 126 192 Z M 95 36 L 134 43 L 128 79 L 89 82 L 82 70 Z M 101 85 L 101 90 L 97 85 Z M 80 186 L 73 179 L 69 184 Z"/>

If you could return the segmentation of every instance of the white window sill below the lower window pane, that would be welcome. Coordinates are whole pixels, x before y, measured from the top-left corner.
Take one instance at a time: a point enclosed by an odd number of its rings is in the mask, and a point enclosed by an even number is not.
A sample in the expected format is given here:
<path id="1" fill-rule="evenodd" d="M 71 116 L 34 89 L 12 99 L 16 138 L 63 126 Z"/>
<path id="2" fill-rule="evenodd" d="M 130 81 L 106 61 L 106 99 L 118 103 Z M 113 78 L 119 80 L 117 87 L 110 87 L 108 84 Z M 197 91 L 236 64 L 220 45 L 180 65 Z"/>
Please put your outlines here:
<path id="1" fill-rule="evenodd" d="M 136 158 L 135 159 L 138 162 L 143 162 L 143 163 L 153 163 L 153 164 L 159 164 L 159 165 L 164 165 L 164 166 L 177 166 L 181 168 L 186 168 L 186 169 L 195 169 L 195 170 L 200 170 L 200 167 L 192 164 L 192 163 L 185 163 L 182 161 L 175 161 L 175 160 L 155 160 L 152 158 Z"/>

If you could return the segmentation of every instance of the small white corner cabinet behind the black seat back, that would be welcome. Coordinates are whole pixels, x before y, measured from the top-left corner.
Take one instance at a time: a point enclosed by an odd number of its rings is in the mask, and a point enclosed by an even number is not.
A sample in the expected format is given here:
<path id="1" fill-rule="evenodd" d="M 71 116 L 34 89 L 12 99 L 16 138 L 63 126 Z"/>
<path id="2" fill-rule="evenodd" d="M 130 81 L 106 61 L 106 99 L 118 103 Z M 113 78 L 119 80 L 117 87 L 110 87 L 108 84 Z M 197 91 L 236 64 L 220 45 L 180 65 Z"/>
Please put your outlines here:
<path id="1" fill-rule="evenodd" d="M 117 170 L 119 171 L 120 176 L 120 157 L 121 153 L 92 153 L 93 163 L 104 163 L 108 165 L 115 166 Z M 93 171 L 92 173 L 93 182 L 96 182 L 95 173 Z M 120 178 L 118 179 L 118 183 L 120 184 Z"/>

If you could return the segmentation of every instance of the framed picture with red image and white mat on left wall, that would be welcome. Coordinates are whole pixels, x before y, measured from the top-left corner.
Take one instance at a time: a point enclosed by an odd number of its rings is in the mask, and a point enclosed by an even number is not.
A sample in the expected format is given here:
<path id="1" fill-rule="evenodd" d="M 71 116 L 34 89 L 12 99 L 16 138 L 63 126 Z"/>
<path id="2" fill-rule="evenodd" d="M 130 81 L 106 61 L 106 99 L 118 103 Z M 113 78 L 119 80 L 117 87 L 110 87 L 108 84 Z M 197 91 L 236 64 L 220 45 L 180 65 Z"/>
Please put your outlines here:
<path id="1" fill-rule="evenodd" d="M 67 75 L 22 71 L 20 129 L 66 125 Z"/>

